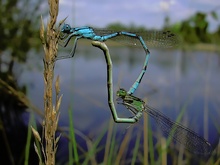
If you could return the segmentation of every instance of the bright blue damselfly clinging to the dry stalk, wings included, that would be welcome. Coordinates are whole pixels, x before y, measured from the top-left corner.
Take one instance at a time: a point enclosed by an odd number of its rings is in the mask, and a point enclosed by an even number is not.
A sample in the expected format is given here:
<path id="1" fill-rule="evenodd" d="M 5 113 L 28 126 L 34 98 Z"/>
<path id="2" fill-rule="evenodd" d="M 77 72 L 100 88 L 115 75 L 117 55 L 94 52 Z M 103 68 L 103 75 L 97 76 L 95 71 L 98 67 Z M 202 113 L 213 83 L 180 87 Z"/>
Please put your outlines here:
<path id="1" fill-rule="evenodd" d="M 57 57 L 57 60 L 73 57 L 75 54 L 78 39 L 83 39 L 83 38 L 93 41 L 100 41 L 100 42 L 104 42 L 109 39 L 116 41 L 123 40 L 123 41 L 128 41 L 132 45 L 141 46 L 145 51 L 146 57 L 144 60 L 144 65 L 141 70 L 141 73 L 139 74 L 138 78 L 136 79 L 136 81 L 128 91 L 129 94 L 133 94 L 135 92 L 135 90 L 138 88 L 142 80 L 142 77 L 146 72 L 147 64 L 150 57 L 150 51 L 147 47 L 147 44 L 157 47 L 172 47 L 178 43 L 178 37 L 173 33 L 171 33 L 170 31 L 166 31 L 166 32 L 146 31 L 146 32 L 135 32 L 135 33 L 125 32 L 125 31 L 115 32 L 110 30 L 94 29 L 88 26 L 72 28 L 70 25 L 64 24 L 61 29 L 61 32 L 63 33 L 63 35 L 60 37 L 60 39 L 64 40 L 63 42 L 60 42 L 62 46 L 66 47 L 70 42 L 71 38 L 73 37 L 75 37 L 75 41 L 70 54 Z"/>

